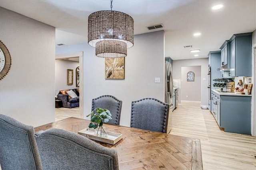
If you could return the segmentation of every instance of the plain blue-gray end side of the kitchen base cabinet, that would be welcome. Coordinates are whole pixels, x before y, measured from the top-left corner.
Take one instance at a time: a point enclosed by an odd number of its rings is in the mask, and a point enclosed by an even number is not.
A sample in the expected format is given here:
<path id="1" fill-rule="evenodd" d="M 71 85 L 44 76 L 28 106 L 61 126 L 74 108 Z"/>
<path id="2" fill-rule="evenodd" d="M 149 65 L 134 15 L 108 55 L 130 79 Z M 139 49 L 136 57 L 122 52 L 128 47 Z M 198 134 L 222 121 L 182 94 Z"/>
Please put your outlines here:
<path id="1" fill-rule="evenodd" d="M 251 96 L 220 96 L 220 127 L 225 132 L 251 134 Z"/>

